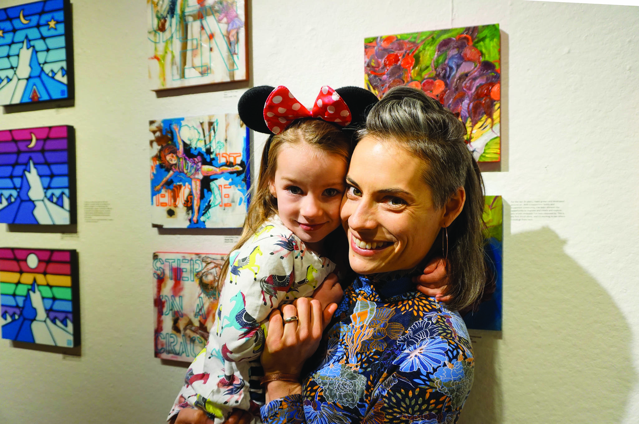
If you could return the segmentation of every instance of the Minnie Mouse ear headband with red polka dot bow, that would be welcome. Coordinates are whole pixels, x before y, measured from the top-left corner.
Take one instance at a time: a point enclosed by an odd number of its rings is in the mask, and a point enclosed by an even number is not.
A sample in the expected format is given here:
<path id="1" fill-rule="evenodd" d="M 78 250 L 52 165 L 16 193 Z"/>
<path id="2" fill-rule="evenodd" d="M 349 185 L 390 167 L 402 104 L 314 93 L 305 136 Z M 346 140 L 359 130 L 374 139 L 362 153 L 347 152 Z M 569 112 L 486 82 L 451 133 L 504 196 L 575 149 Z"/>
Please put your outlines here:
<path id="1" fill-rule="evenodd" d="M 317 118 L 357 130 L 377 96 L 360 87 L 341 87 L 336 90 L 323 86 L 309 110 L 291 94 L 288 88 L 259 86 L 248 89 L 238 102 L 240 119 L 251 130 L 265 134 L 279 134 L 295 119 Z"/>

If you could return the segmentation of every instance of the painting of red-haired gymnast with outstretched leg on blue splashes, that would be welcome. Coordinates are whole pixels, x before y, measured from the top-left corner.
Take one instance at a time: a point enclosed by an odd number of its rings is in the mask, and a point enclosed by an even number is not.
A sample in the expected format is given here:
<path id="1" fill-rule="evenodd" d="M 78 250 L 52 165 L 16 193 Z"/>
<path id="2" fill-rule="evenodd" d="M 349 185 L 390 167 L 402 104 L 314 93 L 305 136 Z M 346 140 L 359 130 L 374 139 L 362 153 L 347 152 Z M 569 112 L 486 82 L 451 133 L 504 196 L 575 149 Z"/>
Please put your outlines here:
<path id="1" fill-rule="evenodd" d="M 238 228 L 247 211 L 249 129 L 238 114 L 150 121 L 151 222 Z"/>

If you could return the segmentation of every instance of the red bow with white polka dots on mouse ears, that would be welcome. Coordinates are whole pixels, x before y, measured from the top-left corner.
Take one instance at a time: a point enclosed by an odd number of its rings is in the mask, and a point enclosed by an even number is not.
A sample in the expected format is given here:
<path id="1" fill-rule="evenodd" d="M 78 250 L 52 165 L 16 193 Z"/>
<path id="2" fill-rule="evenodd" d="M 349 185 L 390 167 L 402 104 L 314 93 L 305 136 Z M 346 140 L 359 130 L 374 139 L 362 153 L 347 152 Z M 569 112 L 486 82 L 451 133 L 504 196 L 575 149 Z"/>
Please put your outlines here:
<path id="1" fill-rule="evenodd" d="M 351 123 L 351 111 L 348 110 L 346 102 L 329 86 L 321 87 L 312 110 L 298 102 L 284 86 L 274 89 L 266 99 L 264 121 L 273 134 L 281 133 L 300 117 L 318 117 L 340 126 Z"/>

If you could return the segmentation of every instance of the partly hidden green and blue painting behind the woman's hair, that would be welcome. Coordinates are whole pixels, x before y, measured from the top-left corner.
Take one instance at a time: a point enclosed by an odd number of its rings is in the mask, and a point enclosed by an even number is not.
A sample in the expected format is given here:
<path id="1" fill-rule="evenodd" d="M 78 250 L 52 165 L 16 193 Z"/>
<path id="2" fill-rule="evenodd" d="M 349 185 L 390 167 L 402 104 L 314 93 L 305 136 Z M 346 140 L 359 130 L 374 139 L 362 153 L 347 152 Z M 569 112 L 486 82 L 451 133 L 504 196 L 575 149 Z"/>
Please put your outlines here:
<path id="1" fill-rule="evenodd" d="M 504 256 L 504 206 L 501 196 L 486 196 L 484 199 L 484 250 L 494 275 L 495 292 L 491 299 L 479 305 L 479 310 L 464 315 L 466 327 L 472 329 L 502 329 L 502 257 Z"/>

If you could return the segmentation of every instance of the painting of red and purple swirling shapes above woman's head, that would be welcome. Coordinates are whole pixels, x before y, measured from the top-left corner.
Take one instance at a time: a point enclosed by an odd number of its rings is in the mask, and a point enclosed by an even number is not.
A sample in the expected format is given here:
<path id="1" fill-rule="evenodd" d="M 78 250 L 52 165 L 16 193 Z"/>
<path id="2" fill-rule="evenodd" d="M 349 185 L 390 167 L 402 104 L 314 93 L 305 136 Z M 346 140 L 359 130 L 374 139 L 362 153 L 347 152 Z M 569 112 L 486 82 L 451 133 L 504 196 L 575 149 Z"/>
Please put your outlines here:
<path id="1" fill-rule="evenodd" d="M 366 88 L 379 98 L 390 88 L 422 89 L 466 125 L 478 162 L 499 162 L 499 25 L 440 29 L 364 39 Z"/>

